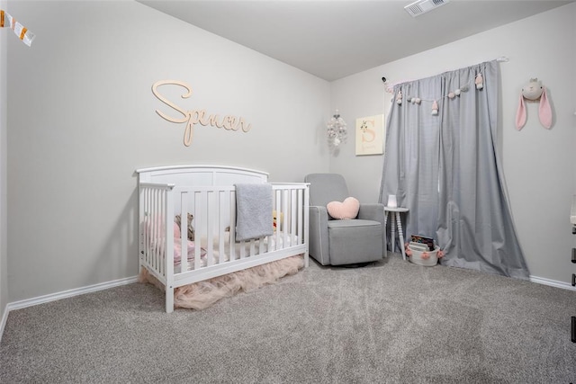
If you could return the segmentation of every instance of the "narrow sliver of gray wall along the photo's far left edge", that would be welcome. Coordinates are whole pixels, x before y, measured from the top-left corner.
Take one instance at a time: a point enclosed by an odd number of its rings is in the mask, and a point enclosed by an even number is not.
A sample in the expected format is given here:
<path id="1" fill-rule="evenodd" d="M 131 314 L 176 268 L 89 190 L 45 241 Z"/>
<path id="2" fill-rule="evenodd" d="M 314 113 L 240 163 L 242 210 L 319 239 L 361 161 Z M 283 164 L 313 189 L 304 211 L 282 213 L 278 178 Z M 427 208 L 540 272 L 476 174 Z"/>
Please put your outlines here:
<path id="1" fill-rule="evenodd" d="M 0 0 L 0 9 L 6 9 L 6 2 Z M 0 33 L 0 319 L 8 304 L 8 253 L 6 245 L 6 71 L 8 31 Z M 0 329 L 0 332 L 2 330 Z M 2 337 L 2 334 L 0 334 Z"/>

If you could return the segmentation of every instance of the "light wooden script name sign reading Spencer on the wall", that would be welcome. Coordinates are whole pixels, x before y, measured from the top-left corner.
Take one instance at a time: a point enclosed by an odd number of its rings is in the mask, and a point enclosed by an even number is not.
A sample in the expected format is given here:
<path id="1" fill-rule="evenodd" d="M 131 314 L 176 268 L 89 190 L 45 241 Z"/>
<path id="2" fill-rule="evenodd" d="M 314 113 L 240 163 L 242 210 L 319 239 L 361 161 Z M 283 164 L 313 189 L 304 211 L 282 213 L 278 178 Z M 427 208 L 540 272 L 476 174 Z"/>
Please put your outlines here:
<path id="1" fill-rule="evenodd" d="M 182 117 L 170 117 L 166 113 L 156 110 L 157 114 L 164 120 L 175 122 L 178 124 L 185 123 L 186 129 L 184 130 L 184 146 L 190 147 L 193 138 L 193 128 L 194 125 L 200 124 L 204 127 L 211 126 L 215 128 L 223 128 L 226 130 L 238 130 L 242 129 L 243 132 L 247 132 L 252 128 L 252 124 L 247 124 L 243 117 L 226 115 L 220 119 L 217 114 L 209 114 L 205 110 L 189 110 L 185 111 L 180 108 L 175 103 L 170 102 L 166 97 L 158 92 L 158 86 L 160 85 L 178 85 L 185 89 L 185 93 L 180 97 L 187 99 L 192 95 L 192 87 L 185 84 L 182 81 L 177 80 L 160 80 L 152 85 L 152 93 L 158 98 L 159 101 L 165 103 L 167 106 L 173 108 L 176 112 L 180 112 Z"/>

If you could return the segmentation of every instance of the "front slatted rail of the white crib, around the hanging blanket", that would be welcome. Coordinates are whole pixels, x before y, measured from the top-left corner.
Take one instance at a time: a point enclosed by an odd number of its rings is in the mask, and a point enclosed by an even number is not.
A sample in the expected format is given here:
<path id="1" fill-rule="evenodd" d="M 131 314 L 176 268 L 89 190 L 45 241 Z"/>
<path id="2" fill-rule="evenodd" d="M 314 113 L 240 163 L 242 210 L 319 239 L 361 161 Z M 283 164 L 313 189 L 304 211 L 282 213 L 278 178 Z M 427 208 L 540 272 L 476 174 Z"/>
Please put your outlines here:
<path id="1" fill-rule="evenodd" d="M 272 184 L 276 230 L 268 237 L 247 241 L 236 240 L 236 190 L 234 186 L 175 187 L 175 214 L 182 218 L 193 214 L 195 230 L 193 263 L 182 263 L 179 273 L 199 270 L 213 265 L 231 263 L 257 255 L 270 255 L 293 246 L 306 244 L 303 210 L 308 191 L 305 184 Z M 188 239 L 184 231 L 180 238 L 181 249 Z"/>

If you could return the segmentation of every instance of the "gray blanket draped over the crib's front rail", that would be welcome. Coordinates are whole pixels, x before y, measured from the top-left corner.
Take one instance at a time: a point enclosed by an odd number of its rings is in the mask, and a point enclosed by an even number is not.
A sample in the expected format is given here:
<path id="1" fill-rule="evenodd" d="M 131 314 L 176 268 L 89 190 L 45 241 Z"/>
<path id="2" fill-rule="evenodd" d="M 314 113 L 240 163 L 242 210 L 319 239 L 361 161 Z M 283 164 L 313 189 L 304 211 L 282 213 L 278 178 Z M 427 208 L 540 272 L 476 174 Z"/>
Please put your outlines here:
<path id="1" fill-rule="evenodd" d="M 236 240 L 274 234 L 273 195 L 269 183 L 244 183 L 236 186 Z"/>

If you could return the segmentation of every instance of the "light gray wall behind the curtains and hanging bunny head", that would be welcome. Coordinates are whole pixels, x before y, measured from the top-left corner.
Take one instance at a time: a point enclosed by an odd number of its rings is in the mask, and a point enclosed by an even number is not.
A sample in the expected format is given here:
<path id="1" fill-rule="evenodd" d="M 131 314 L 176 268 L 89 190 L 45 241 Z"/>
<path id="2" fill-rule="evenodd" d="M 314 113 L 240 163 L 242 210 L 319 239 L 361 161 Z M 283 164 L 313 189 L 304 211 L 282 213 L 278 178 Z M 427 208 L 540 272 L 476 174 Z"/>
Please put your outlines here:
<path id="1" fill-rule="evenodd" d="M 575 46 L 576 4 L 568 4 L 335 81 L 331 105 L 349 124 L 359 117 L 387 116 L 391 94 L 383 92 L 382 76 L 401 83 L 507 56 L 509 62 L 500 65 L 499 147 L 518 237 L 533 276 L 569 282 L 576 272 L 570 263 L 569 221 L 576 193 Z M 525 128 L 515 129 L 520 89 L 530 77 L 541 79 L 549 90 L 554 105 L 550 130 L 540 125 L 537 104 L 528 105 Z M 355 156 L 352 140 L 332 158 L 330 170 L 353 181 L 351 193 L 376 201 L 382 164 L 383 156 Z"/>

